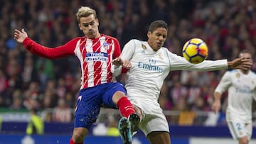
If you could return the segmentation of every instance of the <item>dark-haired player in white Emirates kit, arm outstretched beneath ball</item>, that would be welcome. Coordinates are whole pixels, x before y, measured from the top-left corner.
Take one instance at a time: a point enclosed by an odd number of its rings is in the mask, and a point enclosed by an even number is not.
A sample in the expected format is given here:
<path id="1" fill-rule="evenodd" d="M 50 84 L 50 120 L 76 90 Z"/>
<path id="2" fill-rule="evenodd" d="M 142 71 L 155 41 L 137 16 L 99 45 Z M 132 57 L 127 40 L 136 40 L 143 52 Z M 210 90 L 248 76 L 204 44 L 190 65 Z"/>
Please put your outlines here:
<path id="1" fill-rule="evenodd" d="M 167 24 L 164 21 L 154 21 L 147 33 L 148 40 L 130 40 L 122 50 L 121 56 L 114 59 L 114 65 L 129 68 L 126 77 L 127 97 L 132 102 L 135 111 L 142 121 L 139 128 L 144 132 L 151 144 L 170 144 L 169 125 L 159 106 L 159 93 L 164 79 L 174 70 L 223 70 L 251 67 L 248 60 L 237 58 L 228 60 L 205 60 L 193 65 L 184 57 L 178 56 L 163 45 L 167 37 Z M 125 61 L 124 61 L 125 60 Z M 125 118 L 123 118 L 125 119 Z M 129 121 L 127 121 L 129 125 Z M 125 123 L 119 123 L 121 137 L 128 137 Z M 137 129 L 132 128 L 132 131 Z"/>

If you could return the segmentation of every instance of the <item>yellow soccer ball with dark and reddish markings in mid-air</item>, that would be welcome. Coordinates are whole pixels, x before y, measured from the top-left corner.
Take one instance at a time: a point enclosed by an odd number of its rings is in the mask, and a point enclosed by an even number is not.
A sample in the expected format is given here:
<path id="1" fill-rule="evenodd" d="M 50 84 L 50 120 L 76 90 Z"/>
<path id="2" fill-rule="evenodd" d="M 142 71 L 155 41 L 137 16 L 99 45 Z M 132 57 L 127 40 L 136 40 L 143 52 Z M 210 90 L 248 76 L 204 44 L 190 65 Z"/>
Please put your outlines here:
<path id="1" fill-rule="evenodd" d="M 182 54 L 188 62 L 198 64 L 206 60 L 208 48 L 206 43 L 200 38 L 192 38 L 183 45 Z"/>

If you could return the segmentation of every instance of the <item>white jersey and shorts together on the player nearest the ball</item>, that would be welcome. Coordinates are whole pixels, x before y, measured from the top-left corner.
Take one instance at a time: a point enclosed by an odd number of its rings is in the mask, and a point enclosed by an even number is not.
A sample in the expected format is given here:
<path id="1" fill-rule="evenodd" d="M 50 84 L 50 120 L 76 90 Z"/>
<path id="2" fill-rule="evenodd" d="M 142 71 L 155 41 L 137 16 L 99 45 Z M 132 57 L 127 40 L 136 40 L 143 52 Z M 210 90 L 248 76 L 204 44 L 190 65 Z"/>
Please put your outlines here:
<path id="1" fill-rule="evenodd" d="M 132 64 L 126 77 L 127 98 L 142 110 L 144 119 L 139 128 L 146 136 L 153 131 L 169 132 L 168 122 L 158 99 L 164 79 L 170 71 L 209 71 L 228 67 L 227 60 L 205 60 L 194 65 L 167 48 L 154 51 L 146 41 L 140 40 L 130 40 L 124 45 L 121 58 Z"/>

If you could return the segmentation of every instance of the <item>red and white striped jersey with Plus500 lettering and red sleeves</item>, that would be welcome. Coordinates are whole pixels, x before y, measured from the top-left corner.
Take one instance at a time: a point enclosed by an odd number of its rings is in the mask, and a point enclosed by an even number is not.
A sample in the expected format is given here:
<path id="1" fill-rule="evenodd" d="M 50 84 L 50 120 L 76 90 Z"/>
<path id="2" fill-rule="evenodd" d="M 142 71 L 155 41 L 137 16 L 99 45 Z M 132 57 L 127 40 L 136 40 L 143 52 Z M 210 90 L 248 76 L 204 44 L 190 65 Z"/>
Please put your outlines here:
<path id="1" fill-rule="evenodd" d="M 113 81 L 112 60 L 119 57 L 121 48 L 116 38 L 102 35 L 100 38 L 89 39 L 78 37 L 70 40 L 65 45 L 48 48 L 40 45 L 30 38 L 23 40 L 23 45 L 34 55 L 55 59 L 75 55 L 80 60 L 82 70 L 81 88 L 94 87 Z"/>

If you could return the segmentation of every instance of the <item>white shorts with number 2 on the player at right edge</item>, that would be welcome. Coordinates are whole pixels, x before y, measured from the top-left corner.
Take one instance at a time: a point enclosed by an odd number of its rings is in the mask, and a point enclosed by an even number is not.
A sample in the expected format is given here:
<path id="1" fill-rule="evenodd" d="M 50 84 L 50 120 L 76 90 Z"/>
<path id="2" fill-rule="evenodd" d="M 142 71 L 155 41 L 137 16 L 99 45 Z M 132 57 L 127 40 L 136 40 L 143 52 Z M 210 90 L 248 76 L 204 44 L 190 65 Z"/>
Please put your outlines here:
<path id="1" fill-rule="evenodd" d="M 236 114 L 227 113 L 227 124 L 230 130 L 230 133 L 234 140 L 247 136 L 248 140 L 252 137 L 252 123 L 243 121 L 241 116 Z"/>

